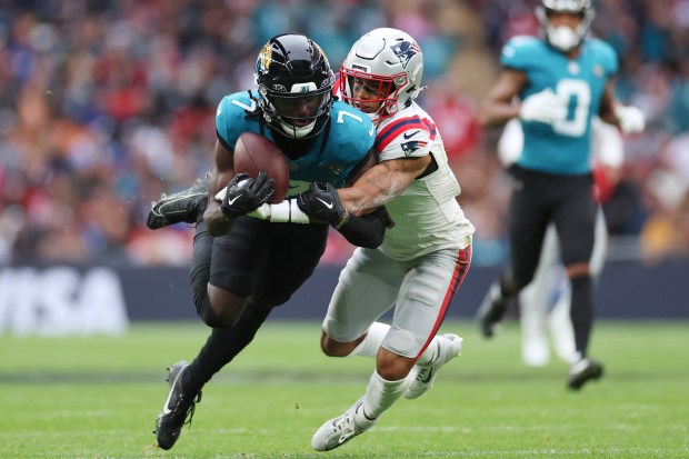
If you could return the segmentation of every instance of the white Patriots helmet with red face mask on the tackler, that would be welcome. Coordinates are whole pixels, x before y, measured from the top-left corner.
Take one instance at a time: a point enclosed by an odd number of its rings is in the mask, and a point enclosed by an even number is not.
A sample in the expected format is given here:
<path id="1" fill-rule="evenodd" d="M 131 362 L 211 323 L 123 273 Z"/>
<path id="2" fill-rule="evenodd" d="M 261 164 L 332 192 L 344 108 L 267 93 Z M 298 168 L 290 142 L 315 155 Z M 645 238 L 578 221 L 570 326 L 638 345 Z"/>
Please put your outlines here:
<path id="1" fill-rule="evenodd" d="M 425 88 L 423 54 L 409 33 L 398 29 L 373 29 L 349 51 L 340 69 L 340 97 L 367 112 L 373 121 L 411 104 Z M 368 93 L 367 97 L 361 90 Z M 377 103 L 373 110 L 367 109 Z"/>

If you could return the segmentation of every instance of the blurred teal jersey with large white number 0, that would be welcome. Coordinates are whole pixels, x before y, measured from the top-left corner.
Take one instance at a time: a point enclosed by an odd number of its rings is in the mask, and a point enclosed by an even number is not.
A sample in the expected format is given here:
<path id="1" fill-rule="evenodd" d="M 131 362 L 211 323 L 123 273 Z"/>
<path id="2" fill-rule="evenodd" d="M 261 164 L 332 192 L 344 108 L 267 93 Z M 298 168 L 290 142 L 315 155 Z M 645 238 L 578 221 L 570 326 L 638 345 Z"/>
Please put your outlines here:
<path id="1" fill-rule="evenodd" d="M 558 174 L 591 170 L 591 120 L 598 114 L 608 79 L 617 73 L 615 50 L 598 39 L 587 39 L 575 59 L 536 37 L 512 38 L 500 57 L 502 66 L 521 71 L 528 84 L 521 100 L 550 88 L 569 101 L 567 118 L 547 124 L 521 122 L 525 142 L 517 163 Z"/>

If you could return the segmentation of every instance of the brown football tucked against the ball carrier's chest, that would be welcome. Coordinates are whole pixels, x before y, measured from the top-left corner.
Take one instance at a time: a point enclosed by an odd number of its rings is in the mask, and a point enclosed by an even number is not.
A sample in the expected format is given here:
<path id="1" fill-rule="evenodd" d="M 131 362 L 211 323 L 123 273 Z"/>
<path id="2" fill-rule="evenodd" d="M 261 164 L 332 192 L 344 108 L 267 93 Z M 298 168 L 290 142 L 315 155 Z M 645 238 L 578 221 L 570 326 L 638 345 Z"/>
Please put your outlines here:
<path id="1" fill-rule="evenodd" d="M 268 138 L 254 132 L 242 132 L 234 143 L 234 171 L 258 177 L 260 171 L 274 180 L 276 192 L 268 202 L 284 200 L 289 188 L 289 167 L 282 150 Z"/>

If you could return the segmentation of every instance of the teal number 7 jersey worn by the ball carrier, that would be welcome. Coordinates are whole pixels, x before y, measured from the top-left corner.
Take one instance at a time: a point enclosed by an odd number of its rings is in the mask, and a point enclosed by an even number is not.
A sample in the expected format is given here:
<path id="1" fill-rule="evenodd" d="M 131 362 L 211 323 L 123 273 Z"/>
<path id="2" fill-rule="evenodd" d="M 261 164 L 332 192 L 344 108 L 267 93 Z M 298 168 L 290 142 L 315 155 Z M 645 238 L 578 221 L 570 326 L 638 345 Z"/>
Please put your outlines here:
<path id="1" fill-rule="evenodd" d="M 254 99 L 257 91 L 234 92 L 226 96 L 218 104 L 216 112 L 216 130 L 218 136 L 229 147 L 233 147 L 242 132 L 261 133 L 259 117 L 247 117 L 248 111 L 257 109 Z M 342 188 L 359 162 L 373 147 L 376 128 L 370 118 L 363 112 L 341 101 L 332 104 L 330 112 L 330 132 L 326 141 L 326 129 L 309 151 L 298 159 L 286 157 L 289 164 L 288 196 L 296 196 L 306 191 L 310 182 L 329 182 L 336 188 Z M 263 126 L 263 136 L 274 142 L 270 129 Z M 326 142 L 323 144 L 323 142 Z"/>

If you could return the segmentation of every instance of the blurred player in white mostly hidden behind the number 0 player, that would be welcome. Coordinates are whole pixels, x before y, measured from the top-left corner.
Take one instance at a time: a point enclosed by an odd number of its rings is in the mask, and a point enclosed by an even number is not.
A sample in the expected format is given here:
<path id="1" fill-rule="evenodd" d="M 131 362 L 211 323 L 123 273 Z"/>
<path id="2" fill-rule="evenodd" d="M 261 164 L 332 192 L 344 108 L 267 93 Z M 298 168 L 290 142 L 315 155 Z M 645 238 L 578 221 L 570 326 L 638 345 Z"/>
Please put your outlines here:
<path id="1" fill-rule="evenodd" d="M 623 161 L 622 137 L 619 130 L 595 118 L 592 124 L 592 154 L 596 168 L 619 169 Z M 498 141 L 502 166 L 517 162 L 523 147 L 519 120 L 510 120 Z M 598 208 L 596 235 L 590 269 L 598 282 L 602 272 L 608 231 L 602 209 Z M 548 336 L 556 355 L 569 363 L 575 356 L 575 338 L 569 318 L 570 285 L 560 261 L 560 247 L 555 224 L 550 223 L 543 239 L 541 257 L 533 280 L 519 293 L 521 326 L 521 358 L 526 365 L 541 367 L 550 360 Z"/>

